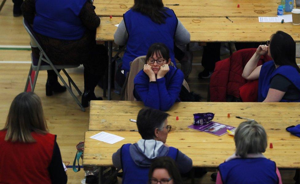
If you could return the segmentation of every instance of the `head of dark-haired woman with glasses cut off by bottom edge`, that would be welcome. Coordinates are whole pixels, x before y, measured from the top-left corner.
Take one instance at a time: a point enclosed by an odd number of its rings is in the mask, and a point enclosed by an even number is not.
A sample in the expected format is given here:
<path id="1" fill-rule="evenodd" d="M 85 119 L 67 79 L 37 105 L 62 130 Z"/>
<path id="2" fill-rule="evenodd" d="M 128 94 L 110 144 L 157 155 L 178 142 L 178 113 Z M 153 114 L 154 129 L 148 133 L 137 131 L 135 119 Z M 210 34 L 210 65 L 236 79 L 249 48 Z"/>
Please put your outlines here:
<path id="1" fill-rule="evenodd" d="M 170 157 L 155 159 L 149 170 L 149 184 L 183 184 L 176 163 Z"/>

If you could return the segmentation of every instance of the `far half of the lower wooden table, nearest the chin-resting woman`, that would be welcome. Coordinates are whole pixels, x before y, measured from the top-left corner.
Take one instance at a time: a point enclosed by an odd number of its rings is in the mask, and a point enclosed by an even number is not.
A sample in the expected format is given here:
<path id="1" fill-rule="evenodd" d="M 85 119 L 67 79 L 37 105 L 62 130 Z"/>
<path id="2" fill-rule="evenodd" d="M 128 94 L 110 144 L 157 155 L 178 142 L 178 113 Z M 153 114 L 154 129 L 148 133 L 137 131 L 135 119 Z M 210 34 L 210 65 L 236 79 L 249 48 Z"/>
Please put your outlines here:
<path id="1" fill-rule="evenodd" d="M 137 129 L 136 119 L 142 102 L 134 101 L 91 101 L 89 131 L 129 131 Z M 172 131 L 188 131 L 194 121 L 194 113 L 213 112 L 214 121 L 237 127 L 243 119 L 235 116 L 255 119 L 261 123 L 267 133 L 283 131 L 285 128 L 299 124 L 300 103 L 250 103 L 250 102 L 176 102 L 168 111 L 168 124 Z M 227 118 L 227 114 L 231 117 Z M 179 120 L 176 120 L 176 116 Z"/>

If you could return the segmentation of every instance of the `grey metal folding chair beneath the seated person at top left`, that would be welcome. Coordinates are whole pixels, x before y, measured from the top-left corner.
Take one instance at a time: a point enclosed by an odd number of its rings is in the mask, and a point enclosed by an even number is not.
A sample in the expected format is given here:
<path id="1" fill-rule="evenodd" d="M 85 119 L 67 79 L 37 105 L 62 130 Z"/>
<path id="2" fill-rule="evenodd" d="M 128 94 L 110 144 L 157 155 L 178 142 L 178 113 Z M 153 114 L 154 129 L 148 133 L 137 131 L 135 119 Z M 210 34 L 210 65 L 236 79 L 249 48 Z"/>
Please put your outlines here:
<path id="1" fill-rule="evenodd" d="M 53 65 L 53 63 L 50 61 L 49 57 L 44 52 L 43 48 L 41 47 L 40 42 L 38 41 L 38 37 L 36 37 L 33 29 L 31 28 L 30 24 L 23 19 L 23 25 L 26 29 L 26 31 L 29 33 L 30 37 L 35 41 L 37 44 L 38 49 L 40 49 L 40 57 L 34 57 L 34 55 L 31 53 L 31 66 L 29 69 L 26 85 L 24 91 L 26 92 L 27 86 L 30 83 L 31 86 L 31 92 L 34 92 L 35 84 L 37 82 L 38 78 L 38 72 L 41 70 L 54 70 L 54 72 L 57 74 L 57 76 L 60 78 L 61 82 L 65 85 L 67 90 L 70 92 L 70 94 L 73 96 L 74 100 L 77 102 L 77 104 L 80 106 L 81 111 L 85 112 L 85 108 L 81 105 L 77 97 L 74 95 L 72 91 L 72 85 L 77 90 L 78 94 L 81 95 L 81 91 L 78 89 L 77 85 L 74 83 L 74 81 L 71 79 L 69 74 L 65 71 L 65 69 L 70 68 L 77 68 L 79 65 Z M 58 69 L 61 69 L 65 75 L 68 77 L 69 85 L 65 82 L 65 80 L 62 78 L 62 76 L 57 71 Z M 32 83 L 31 81 L 31 72 L 32 70 L 36 71 L 34 76 L 34 81 Z M 71 85 L 72 84 L 72 85 Z"/>

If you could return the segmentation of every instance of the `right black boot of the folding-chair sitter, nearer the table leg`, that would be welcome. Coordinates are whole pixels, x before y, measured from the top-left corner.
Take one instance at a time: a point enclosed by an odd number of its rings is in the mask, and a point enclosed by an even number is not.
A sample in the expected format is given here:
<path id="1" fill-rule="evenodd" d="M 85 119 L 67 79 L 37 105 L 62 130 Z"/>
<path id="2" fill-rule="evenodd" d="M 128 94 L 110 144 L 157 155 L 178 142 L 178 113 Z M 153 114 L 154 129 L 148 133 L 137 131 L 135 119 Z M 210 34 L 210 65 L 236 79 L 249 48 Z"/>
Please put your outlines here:
<path id="1" fill-rule="evenodd" d="M 100 79 L 100 76 L 89 73 L 86 69 L 84 70 L 84 93 L 81 97 L 81 105 L 86 108 L 89 107 L 89 101 L 91 100 L 103 100 L 101 97 L 96 97 L 94 90 Z"/>

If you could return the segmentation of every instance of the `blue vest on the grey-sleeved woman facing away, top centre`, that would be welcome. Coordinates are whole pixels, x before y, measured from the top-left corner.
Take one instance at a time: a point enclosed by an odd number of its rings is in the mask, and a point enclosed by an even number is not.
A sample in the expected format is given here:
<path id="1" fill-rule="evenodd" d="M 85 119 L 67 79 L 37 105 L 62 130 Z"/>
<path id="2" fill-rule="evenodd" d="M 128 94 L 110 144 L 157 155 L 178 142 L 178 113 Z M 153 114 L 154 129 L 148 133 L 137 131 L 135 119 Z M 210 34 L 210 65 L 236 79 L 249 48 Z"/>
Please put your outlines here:
<path id="1" fill-rule="evenodd" d="M 147 55 L 147 51 L 153 43 L 164 43 L 169 49 L 171 61 L 176 66 L 174 37 L 178 20 L 173 10 L 166 7 L 165 9 L 170 17 L 166 16 L 164 24 L 155 23 L 147 15 L 131 9 L 123 15 L 128 33 L 126 51 L 122 58 L 122 69 L 124 69 L 125 75 L 129 72 L 129 63 L 139 56 Z"/>

